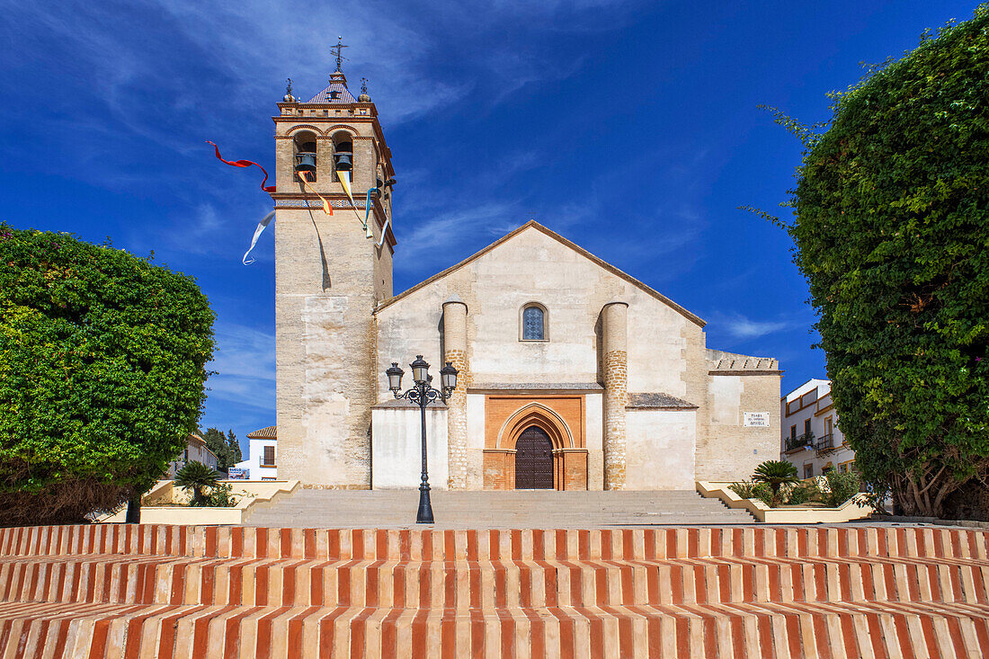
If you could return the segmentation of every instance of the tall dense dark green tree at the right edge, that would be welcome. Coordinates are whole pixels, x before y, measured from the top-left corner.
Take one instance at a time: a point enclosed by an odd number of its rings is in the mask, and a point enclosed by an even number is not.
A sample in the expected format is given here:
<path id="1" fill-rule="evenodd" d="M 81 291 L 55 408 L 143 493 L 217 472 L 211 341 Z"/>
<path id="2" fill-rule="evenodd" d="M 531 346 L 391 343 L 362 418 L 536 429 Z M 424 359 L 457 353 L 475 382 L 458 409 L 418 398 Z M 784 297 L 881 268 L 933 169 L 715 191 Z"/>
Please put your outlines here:
<path id="1" fill-rule="evenodd" d="M 989 6 L 833 98 L 797 134 L 795 262 L 856 469 L 938 515 L 989 470 Z"/>

